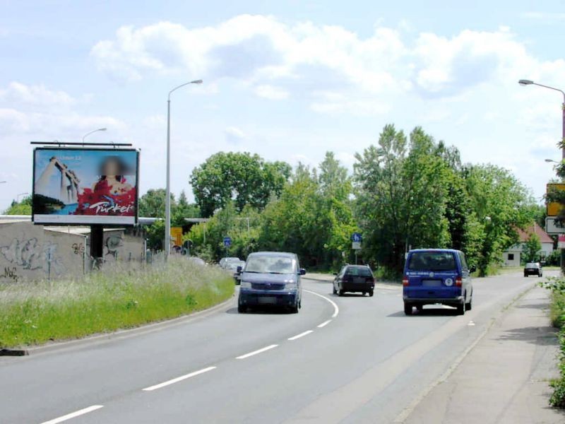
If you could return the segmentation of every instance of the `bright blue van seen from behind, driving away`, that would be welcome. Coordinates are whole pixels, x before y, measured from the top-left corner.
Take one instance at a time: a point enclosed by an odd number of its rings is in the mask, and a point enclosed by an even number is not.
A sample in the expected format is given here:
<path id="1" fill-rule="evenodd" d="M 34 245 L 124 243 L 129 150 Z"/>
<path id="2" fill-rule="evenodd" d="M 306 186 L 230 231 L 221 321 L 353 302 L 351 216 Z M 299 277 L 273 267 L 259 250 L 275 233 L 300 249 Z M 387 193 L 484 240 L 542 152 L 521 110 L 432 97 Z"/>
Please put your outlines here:
<path id="1" fill-rule="evenodd" d="M 453 249 L 414 249 L 408 252 L 404 266 L 404 313 L 424 305 L 457 307 L 460 315 L 472 307 L 472 283 L 465 254 Z"/>

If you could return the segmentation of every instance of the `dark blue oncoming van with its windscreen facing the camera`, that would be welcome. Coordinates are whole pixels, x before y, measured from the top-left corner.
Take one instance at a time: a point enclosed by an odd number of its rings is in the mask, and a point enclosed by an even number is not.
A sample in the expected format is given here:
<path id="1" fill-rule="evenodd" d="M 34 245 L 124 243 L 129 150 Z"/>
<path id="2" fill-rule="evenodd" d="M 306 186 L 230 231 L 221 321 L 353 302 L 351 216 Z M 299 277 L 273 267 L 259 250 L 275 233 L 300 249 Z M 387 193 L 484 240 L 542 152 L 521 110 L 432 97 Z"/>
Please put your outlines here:
<path id="1" fill-rule="evenodd" d="M 294 253 L 255 252 L 249 254 L 241 271 L 237 311 L 253 306 L 287 307 L 297 313 L 302 306 L 302 278 Z"/>

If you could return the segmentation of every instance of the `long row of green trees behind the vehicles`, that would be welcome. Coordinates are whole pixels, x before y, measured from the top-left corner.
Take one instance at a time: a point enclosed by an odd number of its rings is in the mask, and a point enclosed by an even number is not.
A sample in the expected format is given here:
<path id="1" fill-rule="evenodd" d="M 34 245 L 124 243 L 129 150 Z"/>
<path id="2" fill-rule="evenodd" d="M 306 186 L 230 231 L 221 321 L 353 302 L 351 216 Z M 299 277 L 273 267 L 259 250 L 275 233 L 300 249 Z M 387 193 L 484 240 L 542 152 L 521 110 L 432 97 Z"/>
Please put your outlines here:
<path id="1" fill-rule="evenodd" d="M 391 124 L 355 155 L 352 175 L 332 152 L 318 167 L 294 170 L 249 153 L 217 153 L 190 182 L 196 207 L 210 220 L 186 239 L 211 260 L 277 249 L 308 266 L 335 268 L 354 260 L 350 236 L 361 232 L 362 261 L 391 273 L 401 271 L 410 248 L 451 247 L 484 274 L 518 242 L 516 228 L 541 213 L 508 170 L 464 164 L 457 148 L 422 128 L 407 136 Z M 232 238 L 229 252 L 225 236 Z"/>

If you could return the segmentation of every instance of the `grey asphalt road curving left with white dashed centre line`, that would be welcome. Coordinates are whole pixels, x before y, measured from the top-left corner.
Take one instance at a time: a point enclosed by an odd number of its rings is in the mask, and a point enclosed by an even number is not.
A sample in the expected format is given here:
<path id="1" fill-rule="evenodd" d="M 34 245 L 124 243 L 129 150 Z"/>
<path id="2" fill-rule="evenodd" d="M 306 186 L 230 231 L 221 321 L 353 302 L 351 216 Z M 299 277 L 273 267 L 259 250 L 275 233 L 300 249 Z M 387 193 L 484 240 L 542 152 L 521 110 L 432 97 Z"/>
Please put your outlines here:
<path id="1" fill-rule="evenodd" d="M 0 358 L 0 423 L 393 423 L 537 281 L 475 279 L 463 317 L 439 306 L 405 317 L 400 286 L 339 298 L 304 280 L 299 314 L 238 314 L 234 301 L 154 331 Z"/>

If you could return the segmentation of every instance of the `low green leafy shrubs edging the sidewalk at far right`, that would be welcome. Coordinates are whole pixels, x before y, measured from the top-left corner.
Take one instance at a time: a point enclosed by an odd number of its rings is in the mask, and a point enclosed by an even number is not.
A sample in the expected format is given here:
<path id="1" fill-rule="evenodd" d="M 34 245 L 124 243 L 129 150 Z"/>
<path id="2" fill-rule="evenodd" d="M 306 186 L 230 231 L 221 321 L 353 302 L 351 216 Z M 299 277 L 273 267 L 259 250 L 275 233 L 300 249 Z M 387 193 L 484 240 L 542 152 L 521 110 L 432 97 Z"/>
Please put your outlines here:
<path id="1" fill-rule="evenodd" d="M 552 302 L 550 305 L 550 317 L 552 324 L 559 329 L 559 379 L 551 382 L 553 394 L 549 398 L 549 404 L 559 408 L 565 408 L 565 280 L 559 278 L 548 278 L 549 281 L 541 285 L 552 290 Z"/>

